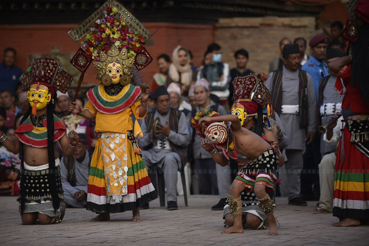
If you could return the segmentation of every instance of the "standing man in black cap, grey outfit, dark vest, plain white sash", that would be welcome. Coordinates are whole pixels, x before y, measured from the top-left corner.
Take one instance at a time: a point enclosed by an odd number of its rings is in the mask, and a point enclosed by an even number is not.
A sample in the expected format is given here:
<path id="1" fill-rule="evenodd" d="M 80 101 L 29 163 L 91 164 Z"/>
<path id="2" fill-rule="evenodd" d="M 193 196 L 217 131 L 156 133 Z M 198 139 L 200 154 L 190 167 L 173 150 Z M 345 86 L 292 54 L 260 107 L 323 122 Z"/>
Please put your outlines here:
<path id="1" fill-rule="evenodd" d="M 305 141 L 307 144 L 313 142 L 317 116 L 313 78 L 299 69 L 299 58 L 299 45 L 285 45 L 284 66 L 270 73 L 265 86 L 289 139 L 286 148 L 289 204 L 306 206 L 300 197 L 302 154 L 306 148 Z"/>

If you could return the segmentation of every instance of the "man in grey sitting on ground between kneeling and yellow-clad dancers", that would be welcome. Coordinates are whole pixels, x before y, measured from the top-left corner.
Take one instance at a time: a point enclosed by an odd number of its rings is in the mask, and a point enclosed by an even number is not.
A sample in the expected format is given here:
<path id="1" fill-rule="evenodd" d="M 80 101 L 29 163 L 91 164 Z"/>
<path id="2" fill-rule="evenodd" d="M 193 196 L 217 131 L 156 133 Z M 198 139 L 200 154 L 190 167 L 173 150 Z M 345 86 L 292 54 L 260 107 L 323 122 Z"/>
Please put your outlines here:
<path id="1" fill-rule="evenodd" d="M 62 157 L 60 172 L 65 204 L 74 208 L 83 208 L 86 206 L 91 157 L 87 151 L 86 134 L 78 134 L 78 136 L 76 152 L 71 158 Z"/>

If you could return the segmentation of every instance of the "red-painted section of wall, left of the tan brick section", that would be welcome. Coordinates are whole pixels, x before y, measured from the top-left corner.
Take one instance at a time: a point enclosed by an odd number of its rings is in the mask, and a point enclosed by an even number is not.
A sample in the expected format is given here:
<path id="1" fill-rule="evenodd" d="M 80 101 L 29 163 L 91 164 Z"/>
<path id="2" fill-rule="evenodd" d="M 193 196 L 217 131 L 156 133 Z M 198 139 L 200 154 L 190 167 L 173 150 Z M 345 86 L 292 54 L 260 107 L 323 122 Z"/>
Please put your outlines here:
<path id="1" fill-rule="evenodd" d="M 169 23 L 144 23 L 152 33 L 159 30 L 149 40 L 146 49 L 154 61 L 141 70 L 145 83 L 151 84 L 152 75 L 157 72 L 156 58 L 161 53 L 172 55 L 177 45 L 190 48 L 194 55 L 195 65 L 200 65 L 203 52 L 214 40 L 214 27 L 212 25 L 187 25 Z M 75 78 L 80 73 L 69 64 L 70 58 L 79 48 L 67 34 L 75 25 L 3 25 L 0 26 L 0 50 L 13 47 L 17 50 L 16 65 L 26 70 L 30 63 L 30 55 L 50 54 L 52 47 L 59 48 L 59 58 L 63 58 L 63 65 Z M 2 60 L 2 52 L 1 60 Z M 69 60 L 67 59 L 69 58 Z M 96 69 L 91 65 L 85 74 L 85 85 L 97 84 Z M 76 84 L 77 79 L 74 80 Z"/>

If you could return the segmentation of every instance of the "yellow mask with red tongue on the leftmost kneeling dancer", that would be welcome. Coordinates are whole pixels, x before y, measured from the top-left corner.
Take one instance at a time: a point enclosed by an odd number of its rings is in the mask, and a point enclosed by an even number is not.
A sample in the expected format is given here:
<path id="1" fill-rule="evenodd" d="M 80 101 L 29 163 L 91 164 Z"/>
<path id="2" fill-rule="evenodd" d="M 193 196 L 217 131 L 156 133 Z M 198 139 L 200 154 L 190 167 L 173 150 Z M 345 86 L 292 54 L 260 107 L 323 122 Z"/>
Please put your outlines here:
<path id="1" fill-rule="evenodd" d="M 51 95 L 47 86 L 32 84 L 27 91 L 27 99 L 32 107 L 32 114 L 36 115 L 36 111 L 42 110 L 51 101 Z"/>

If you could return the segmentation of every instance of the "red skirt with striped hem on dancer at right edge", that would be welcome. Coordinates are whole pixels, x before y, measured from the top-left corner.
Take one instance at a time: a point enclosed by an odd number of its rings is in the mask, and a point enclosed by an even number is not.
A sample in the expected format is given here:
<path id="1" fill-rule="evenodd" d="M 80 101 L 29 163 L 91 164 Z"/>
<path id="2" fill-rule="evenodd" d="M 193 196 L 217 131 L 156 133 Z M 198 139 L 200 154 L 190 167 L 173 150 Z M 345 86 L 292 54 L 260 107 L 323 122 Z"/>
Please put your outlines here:
<path id="1" fill-rule="evenodd" d="M 332 212 L 339 218 L 369 219 L 369 158 L 351 142 L 347 126 L 338 146 Z"/>

